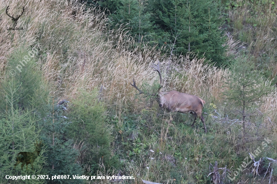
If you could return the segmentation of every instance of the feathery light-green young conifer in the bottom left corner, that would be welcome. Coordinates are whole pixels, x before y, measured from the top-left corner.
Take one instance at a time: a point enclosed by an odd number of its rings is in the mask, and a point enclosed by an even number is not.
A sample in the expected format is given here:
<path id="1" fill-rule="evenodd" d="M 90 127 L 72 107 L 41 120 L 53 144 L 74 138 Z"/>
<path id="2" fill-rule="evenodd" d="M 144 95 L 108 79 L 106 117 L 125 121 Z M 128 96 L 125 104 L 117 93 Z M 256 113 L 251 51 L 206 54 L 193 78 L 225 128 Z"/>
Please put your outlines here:
<path id="1" fill-rule="evenodd" d="M 0 116 L 0 182 L 29 183 L 28 179 L 6 179 L 6 175 L 46 174 L 46 170 L 43 169 L 45 165 L 45 147 L 35 147 L 41 139 L 40 129 L 36 126 L 37 121 L 34 114 L 28 109 L 22 111 L 19 108 L 17 93 L 21 88 L 21 83 L 16 83 L 13 77 L 8 83 L 9 86 L 2 90 L 2 95 L 6 97 L 6 100 L 2 103 L 7 105 L 7 109 Z M 40 145 L 43 145 L 43 142 Z M 36 149 L 40 150 L 38 155 Z M 30 164 L 28 164 L 28 159 L 21 155 L 18 159 L 20 152 L 29 152 L 29 155 L 34 156 L 34 161 L 30 161 Z M 24 161 L 28 165 L 25 164 L 21 169 Z M 44 180 L 32 180 L 32 183 L 43 182 Z"/>

